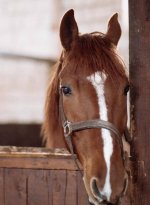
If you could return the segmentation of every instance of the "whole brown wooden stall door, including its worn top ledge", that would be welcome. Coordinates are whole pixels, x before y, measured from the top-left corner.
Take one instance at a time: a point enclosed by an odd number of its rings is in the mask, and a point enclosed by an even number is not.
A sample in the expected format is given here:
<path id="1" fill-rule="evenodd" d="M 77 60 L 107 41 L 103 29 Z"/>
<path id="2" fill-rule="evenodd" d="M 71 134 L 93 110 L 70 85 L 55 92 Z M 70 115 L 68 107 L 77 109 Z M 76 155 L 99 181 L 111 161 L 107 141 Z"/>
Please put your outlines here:
<path id="1" fill-rule="evenodd" d="M 69 153 L 0 147 L 0 205 L 89 205 Z"/>

